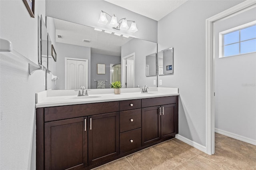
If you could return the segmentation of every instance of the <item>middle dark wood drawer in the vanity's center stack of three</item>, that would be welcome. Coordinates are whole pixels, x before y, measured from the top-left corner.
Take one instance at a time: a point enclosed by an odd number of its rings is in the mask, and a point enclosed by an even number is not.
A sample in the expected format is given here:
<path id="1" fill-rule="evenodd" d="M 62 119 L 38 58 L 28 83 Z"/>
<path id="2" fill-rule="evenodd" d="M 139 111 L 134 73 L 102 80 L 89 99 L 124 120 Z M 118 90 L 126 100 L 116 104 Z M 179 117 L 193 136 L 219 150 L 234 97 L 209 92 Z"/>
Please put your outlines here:
<path id="1" fill-rule="evenodd" d="M 120 115 L 120 132 L 136 129 L 141 127 L 141 109 L 130 111 L 121 111 Z"/>

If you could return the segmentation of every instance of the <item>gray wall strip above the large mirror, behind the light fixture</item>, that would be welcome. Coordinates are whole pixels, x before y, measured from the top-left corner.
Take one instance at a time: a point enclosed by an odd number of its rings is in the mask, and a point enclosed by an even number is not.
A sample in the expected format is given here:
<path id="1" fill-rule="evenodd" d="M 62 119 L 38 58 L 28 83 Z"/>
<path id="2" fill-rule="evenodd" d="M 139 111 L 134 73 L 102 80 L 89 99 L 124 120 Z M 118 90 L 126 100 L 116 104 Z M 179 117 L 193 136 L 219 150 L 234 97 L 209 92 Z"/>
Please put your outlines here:
<path id="1" fill-rule="evenodd" d="M 113 30 L 108 25 L 98 24 L 101 10 L 110 15 L 115 16 L 120 20 L 135 20 L 138 31 L 135 33 L 128 31 Z M 46 16 L 100 28 L 120 34 L 125 34 L 135 38 L 157 42 L 157 21 L 148 17 L 126 10 L 120 6 L 116 6 L 104 0 L 79 0 L 74 3 L 73 0 L 47 0 L 46 1 Z M 111 18 L 107 16 L 110 22 Z M 130 26 L 131 22 L 128 22 Z"/>

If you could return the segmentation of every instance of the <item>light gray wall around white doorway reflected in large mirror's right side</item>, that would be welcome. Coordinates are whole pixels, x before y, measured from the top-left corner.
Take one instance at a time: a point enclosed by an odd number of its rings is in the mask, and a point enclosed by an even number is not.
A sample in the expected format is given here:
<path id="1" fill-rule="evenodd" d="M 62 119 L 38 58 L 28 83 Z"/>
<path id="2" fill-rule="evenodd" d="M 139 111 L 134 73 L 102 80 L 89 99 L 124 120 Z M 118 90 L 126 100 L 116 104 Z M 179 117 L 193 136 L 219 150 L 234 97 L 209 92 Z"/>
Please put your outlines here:
<path id="1" fill-rule="evenodd" d="M 153 81 L 156 80 L 156 76 L 146 77 L 146 56 L 156 52 L 156 43 L 148 42 L 140 39 L 132 39 L 121 47 L 121 57 L 135 53 L 135 87 L 140 85 L 153 85 Z"/>

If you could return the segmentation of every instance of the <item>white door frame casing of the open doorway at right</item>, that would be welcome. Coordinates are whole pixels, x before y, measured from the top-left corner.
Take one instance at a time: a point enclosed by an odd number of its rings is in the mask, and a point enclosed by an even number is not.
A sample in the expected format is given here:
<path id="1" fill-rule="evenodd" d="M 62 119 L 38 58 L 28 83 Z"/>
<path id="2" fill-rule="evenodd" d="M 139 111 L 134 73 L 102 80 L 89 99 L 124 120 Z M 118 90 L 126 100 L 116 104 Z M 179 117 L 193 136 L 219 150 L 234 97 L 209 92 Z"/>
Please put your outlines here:
<path id="1" fill-rule="evenodd" d="M 215 151 L 215 112 L 214 112 L 214 23 L 236 16 L 256 7 L 256 1 L 246 0 L 228 10 L 206 19 L 206 153 Z"/>

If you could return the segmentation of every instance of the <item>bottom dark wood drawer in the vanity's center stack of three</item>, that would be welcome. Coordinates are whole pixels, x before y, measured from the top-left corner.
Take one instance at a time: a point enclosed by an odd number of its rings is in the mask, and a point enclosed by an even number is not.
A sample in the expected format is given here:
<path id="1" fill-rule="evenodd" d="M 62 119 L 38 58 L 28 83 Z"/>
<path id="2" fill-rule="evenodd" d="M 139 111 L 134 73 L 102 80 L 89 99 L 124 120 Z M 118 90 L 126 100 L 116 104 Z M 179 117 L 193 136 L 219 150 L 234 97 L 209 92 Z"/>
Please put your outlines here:
<path id="1" fill-rule="evenodd" d="M 141 128 L 120 133 L 120 154 L 141 147 Z"/>

